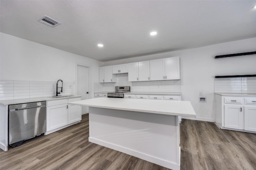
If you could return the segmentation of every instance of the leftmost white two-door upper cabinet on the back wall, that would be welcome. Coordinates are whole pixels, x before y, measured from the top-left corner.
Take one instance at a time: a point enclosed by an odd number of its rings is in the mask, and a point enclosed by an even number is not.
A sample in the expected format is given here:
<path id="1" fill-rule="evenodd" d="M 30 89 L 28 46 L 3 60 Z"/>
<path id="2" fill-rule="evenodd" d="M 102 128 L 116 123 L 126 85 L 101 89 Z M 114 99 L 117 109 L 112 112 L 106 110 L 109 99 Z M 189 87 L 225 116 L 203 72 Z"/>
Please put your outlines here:
<path id="1" fill-rule="evenodd" d="M 112 74 L 112 66 L 99 67 L 99 82 L 116 82 L 116 75 Z"/>

